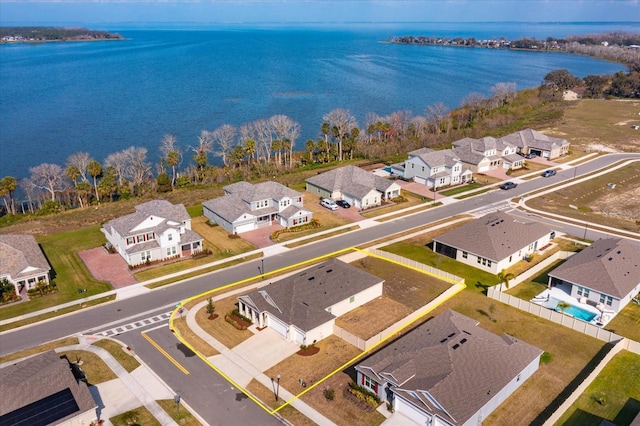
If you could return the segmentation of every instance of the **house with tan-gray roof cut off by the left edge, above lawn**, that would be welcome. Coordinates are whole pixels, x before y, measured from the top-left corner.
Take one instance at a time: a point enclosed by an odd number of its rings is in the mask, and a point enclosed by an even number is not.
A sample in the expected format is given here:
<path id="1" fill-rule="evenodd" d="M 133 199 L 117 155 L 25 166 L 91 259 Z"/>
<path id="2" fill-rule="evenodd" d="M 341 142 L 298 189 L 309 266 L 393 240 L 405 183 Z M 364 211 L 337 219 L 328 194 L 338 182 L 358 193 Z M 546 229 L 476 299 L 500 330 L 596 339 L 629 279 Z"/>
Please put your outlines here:
<path id="1" fill-rule="evenodd" d="M 0 259 L 0 279 L 12 283 L 18 295 L 39 281 L 49 283 L 51 265 L 33 235 L 0 235 Z"/>

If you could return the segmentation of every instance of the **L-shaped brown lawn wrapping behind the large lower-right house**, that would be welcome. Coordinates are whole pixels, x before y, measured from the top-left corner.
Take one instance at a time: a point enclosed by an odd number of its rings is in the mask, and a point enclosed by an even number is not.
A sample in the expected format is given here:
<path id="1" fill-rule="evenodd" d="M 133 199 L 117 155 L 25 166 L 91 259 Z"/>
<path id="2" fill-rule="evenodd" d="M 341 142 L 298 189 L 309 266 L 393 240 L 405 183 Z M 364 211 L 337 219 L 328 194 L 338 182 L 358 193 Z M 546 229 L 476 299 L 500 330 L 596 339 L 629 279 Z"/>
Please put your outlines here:
<path id="1" fill-rule="evenodd" d="M 470 290 L 458 293 L 432 314 L 436 316 L 445 309 L 474 318 L 480 327 L 492 333 L 507 333 L 534 345 L 551 358 L 540 364 L 538 371 L 485 420 L 486 424 L 510 425 L 513 419 L 523 425 L 542 424 L 541 419 L 546 420 L 551 414 L 547 407 L 556 398 L 559 401 L 566 399 L 565 388 L 584 368 L 594 367 L 593 363 L 599 360 L 600 351 L 606 346 L 603 341 Z"/>

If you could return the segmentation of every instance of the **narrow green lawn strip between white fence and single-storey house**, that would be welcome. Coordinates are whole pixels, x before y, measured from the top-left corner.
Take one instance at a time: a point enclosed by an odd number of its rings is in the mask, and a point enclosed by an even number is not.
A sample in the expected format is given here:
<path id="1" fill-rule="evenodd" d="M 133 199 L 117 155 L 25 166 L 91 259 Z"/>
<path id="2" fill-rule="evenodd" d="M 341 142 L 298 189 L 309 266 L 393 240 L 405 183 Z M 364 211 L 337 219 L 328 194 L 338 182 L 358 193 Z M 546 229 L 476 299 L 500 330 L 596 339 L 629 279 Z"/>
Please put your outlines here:
<path id="1" fill-rule="evenodd" d="M 399 256 L 413 259 L 425 265 L 433 266 L 451 274 L 457 275 L 465 279 L 467 289 L 485 292 L 488 287 L 498 283 L 498 278 L 488 272 L 460 263 L 447 256 L 434 253 L 428 247 L 423 245 L 411 244 L 407 241 L 399 241 L 381 250 L 395 253 Z"/>

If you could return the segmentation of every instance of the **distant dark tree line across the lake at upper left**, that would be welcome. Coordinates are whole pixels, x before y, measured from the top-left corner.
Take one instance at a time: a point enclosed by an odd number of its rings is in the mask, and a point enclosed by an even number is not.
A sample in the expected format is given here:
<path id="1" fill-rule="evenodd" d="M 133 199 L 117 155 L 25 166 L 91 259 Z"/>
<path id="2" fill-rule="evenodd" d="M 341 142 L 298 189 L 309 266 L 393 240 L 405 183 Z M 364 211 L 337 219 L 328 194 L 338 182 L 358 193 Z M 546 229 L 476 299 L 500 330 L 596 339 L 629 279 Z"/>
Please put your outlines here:
<path id="1" fill-rule="evenodd" d="M 0 41 L 3 43 L 82 40 L 122 40 L 122 36 L 77 27 L 0 27 Z"/>

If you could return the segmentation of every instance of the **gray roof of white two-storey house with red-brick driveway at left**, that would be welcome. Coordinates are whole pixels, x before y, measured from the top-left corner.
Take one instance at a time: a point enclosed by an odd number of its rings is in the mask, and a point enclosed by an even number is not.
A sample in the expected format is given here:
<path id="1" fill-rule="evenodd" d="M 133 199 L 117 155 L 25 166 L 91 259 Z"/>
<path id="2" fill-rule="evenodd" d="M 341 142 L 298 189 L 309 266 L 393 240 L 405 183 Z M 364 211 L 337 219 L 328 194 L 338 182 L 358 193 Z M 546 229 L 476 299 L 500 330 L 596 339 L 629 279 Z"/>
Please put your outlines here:
<path id="1" fill-rule="evenodd" d="M 136 212 L 126 216 L 118 217 L 110 220 L 105 229 L 113 227 L 118 234 L 123 237 L 131 235 L 134 228 L 140 225 L 149 217 L 157 217 L 165 219 L 159 221 L 155 226 L 148 228 L 149 231 L 161 233 L 168 226 L 178 226 L 182 222 L 190 219 L 189 213 L 183 204 L 171 204 L 167 200 L 153 200 L 143 204 L 138 204 Z M 175 222 L 175 225 L 169 224 L 168 221 Z M 137 233 L 138 231 L 136 231 Z"/>

